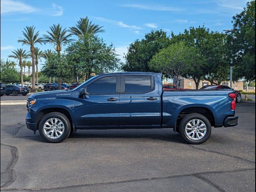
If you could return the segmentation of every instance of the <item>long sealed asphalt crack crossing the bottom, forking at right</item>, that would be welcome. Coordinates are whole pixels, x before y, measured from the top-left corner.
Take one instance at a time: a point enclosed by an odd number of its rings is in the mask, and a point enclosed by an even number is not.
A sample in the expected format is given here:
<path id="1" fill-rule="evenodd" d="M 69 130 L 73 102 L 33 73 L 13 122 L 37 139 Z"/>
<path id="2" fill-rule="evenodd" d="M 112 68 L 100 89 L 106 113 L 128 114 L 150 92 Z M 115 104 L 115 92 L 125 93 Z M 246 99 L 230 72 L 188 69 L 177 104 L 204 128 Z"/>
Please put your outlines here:
<path id="1" fill-rule="evenodd" d="M 110 185 L 110 184 L 120 184 L 120 183 L 130 183 L 130 182 L 140 182 L 140 181 L 150 181 L 150 180 L 160 180 L 160 179 L 169 179 L 169 178 L 180 178 L 180 177 L 188 177 L 188 176 L 195 176 L 196 178 L 210 184 L 214 188 L 218 189 L 220 192 L 224 192 L 222 188 L 217 186 L 216 184 L 212 183 L 211 181 L 207 180 L 201 174 L 218 174 L 218 173 L 232 173 L 232 172 L 241 172 L 241 171 L 248 171 L 248 170 L 255 170 L 255 168 L 243 168 L 238 170 L 228 170 L 228 171 L 211 171 L 211 172 L 199 172 L 193 174 L 182 174 L 182 175 L 174 175 L 174 176 L 166 176 L 166 177 L 151 177 L 151 178 L 141 178 L 141 179 L 131 179 L 131 180 L 122 180 L 122 181 L 112 181 L 112 182 L 101 182 L 101 183 L 90 183 L 90 184 L 78 184 L 78 185 L 70 185 L 65 187 L 55 187 L 55 188 L 9 188 L 9 189 L 2 189 L 5 191 L 17 191 L 17 190 L 27 190 L 27 191 L 42 191 L 42 190 L 56 190 L 56 189 L 67 189 L 72 187 L 85 187 L 85 186 L 100 186 L 100 185 Z"/>

